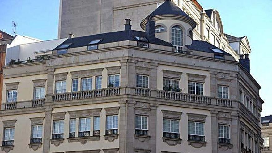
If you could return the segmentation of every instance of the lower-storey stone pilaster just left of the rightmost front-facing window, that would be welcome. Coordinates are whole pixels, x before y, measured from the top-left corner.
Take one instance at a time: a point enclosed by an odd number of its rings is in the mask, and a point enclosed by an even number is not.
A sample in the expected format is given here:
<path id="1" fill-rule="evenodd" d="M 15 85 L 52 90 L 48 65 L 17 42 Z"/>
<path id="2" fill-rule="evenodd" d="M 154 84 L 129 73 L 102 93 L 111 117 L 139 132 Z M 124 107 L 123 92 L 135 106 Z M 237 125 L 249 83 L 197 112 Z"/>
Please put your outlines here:
<path id="1" fill-rule="evenodd" d="M 218 112 L 215 110 L 210 111 L 211 116 L 211 145 L 212 145 L 212 153 L 217 153 L 217 114 Z"/>

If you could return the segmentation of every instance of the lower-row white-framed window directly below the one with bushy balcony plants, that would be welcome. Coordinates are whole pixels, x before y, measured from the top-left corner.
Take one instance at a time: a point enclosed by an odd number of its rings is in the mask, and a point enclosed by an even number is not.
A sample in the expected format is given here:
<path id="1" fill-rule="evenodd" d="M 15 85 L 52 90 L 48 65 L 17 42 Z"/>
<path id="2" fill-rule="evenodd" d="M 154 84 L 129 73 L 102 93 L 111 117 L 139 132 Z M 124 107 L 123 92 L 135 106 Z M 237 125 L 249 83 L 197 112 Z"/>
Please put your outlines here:
<path id="1" fill-rule="evenodd" d="M 163 132 L 179 133 L 179 121 L 164 118 Z"/>

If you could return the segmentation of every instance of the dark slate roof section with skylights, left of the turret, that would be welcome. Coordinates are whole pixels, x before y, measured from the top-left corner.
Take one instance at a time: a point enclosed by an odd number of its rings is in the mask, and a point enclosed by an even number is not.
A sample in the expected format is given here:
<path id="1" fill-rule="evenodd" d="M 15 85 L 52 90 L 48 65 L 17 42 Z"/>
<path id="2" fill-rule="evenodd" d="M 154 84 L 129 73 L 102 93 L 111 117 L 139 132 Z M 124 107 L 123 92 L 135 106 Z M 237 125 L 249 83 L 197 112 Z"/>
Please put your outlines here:
<path id="1" fill-rule="evenodd" d="M 118 41 L 124 41 L 124 40 L 137 41 L 135 36 L 146 37 L 146 33 L 142 31 L 136 31 L 136 30 L 125 30 L 125 31 L 102 33 L 97 35 L 69 38 L 66 41 L 64 41 L 62 44 L 58 45 L 53 50 L 57 50 L 57 48 L 63 44 L 70 44 L 70 43 L 72 44 L 69 45 L 67 48 L 83 47 L 83 46 L 87 46 L 92 40 L 97 40 L 97 39 L 102 39 L 98 44 L 105 44 L 105 43 L 118 42 Z M 166 42 L 164 40 L 160 40 L 158 38 L 155 39 L 155 43 L 153 44 L 170 46 L 170 47 L 173 46 L 171 43 Z"/>

